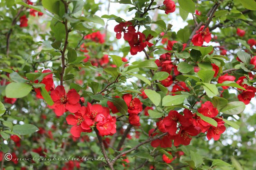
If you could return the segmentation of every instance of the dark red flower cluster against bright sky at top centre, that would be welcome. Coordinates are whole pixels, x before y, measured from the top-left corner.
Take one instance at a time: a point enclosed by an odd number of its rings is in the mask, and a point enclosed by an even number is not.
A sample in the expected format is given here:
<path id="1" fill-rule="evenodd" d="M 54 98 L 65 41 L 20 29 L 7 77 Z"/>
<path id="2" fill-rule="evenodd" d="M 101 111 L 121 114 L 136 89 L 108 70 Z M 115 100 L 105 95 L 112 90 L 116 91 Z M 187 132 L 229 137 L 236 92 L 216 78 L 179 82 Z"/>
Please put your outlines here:
<path id="1" fill-rule="evenodd" d="M 131 49 L 130 53 L 131 55 L 135 55 L 138 52 L 141 52 L 144 50 L 146 46 L 152 47 L 153 44 L 148 42 L 150 39 L 153 38 L 151 34 L 148 35 L 146 38 L 144 33 L 141 32 L 135 32 L 134 26 L 132 26 L 132 23 L 127 22 L 120 22 L 118 25 L 115 26 L 114 31 L 116 32 L 116 38 L 120 39 L 121 33 L 124 32 L 124 39 L 128 41 Z"/>

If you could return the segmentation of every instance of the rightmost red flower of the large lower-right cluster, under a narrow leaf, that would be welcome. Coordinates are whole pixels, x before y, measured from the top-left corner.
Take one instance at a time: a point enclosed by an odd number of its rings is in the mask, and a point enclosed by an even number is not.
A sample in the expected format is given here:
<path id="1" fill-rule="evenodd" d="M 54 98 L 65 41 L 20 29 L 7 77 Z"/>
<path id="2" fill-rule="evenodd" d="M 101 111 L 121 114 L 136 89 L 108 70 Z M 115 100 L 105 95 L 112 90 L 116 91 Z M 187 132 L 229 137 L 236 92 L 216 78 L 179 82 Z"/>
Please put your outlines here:
<path id="1" fill-rule="evenodd" d="M 219 140 L 220 139 L 220 134 L 222 134 L 225 130 L 226 127 L 224 126 L 224 121 L 219 118 L 213 118 L 217 123 L 217 127 L 211 126 L 209 130 L 207 131 L 207 139 L 210 140 L 213 138 L 214 140 Z"/>

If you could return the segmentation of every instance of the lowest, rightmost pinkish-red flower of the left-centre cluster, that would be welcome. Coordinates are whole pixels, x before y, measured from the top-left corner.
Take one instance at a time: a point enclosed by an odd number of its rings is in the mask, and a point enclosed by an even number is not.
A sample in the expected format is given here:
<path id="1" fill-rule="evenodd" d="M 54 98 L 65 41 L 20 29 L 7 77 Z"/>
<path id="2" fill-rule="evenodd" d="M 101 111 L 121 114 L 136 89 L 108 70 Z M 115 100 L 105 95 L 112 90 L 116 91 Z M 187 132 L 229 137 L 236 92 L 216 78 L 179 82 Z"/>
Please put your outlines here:
<path id="1" fill-rule="evenodd" d="M 99 130 L 99 134 L 101 136 L 113 135 L 114 133 L 117 132 L 116 128 L 117 128 L 116 117 L 110 116 L 110 114 L 108 115 L 108 117 L 106 119 L 97 123 L 97 129 Z"/>

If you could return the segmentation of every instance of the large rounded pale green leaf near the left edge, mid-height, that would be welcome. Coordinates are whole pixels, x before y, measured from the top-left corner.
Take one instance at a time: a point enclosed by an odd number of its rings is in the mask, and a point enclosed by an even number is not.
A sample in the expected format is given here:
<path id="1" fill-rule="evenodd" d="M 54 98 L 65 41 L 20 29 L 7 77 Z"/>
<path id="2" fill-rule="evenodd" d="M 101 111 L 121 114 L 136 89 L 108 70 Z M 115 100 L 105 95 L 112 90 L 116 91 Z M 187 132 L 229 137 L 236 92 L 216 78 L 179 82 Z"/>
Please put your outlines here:
<path id="1" fill-rule="evenodd" d="M 8 98 L 22 98 L 28 95 L 32 86 L 26 83 L 12 82 L 6 86 L 5 93 Z"/>

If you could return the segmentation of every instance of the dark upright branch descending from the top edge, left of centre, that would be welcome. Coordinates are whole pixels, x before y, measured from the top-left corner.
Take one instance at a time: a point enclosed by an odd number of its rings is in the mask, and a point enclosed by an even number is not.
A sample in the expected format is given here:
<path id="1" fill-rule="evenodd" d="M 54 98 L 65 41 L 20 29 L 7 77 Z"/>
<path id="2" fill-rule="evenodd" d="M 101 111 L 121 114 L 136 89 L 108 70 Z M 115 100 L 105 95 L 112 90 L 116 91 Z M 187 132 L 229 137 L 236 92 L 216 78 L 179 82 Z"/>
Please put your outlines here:
<path id="1" fill-rule="evenodd" d="M 61 0 L 64 5 L 65 5 L 65 13 L 67 13 L 67 8 L 68 8 L 68 4 L 66 1 L 64 0 Z M 64 21 L 64 25 L 65 25 L 65 31 L 66 31 L 66 36 L 65 36 L 65 42 L 64 42 L 64 47 L 63 47 L 63 50 L 61 50 L 61 62 L 62 62 L 62 71 L 61 71 L 61 86 L 63 86 L 63 75 L 64 75 L 64 71 L 65 71 L 65 51 L 66 51 L 66 48 L 67 48 L 67 39 L 68 39 L 68 33 L 69 33 L 69 30 L 67 29 L 67 19 L 65 19 Z"/>

